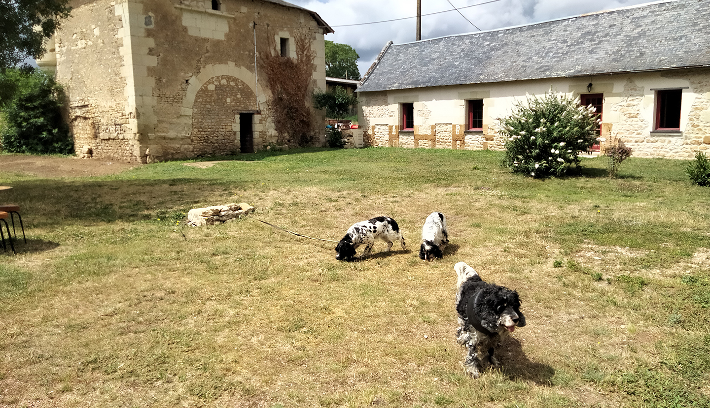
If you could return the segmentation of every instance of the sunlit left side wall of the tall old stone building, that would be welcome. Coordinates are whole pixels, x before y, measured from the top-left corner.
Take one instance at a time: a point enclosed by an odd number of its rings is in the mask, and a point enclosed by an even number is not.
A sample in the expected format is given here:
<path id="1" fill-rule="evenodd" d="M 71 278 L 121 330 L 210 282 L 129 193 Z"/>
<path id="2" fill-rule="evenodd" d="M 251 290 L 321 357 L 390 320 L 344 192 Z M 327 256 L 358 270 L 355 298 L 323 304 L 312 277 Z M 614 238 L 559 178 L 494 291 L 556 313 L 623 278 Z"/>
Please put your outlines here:
<path id="1" fill-rule="evenodd" d="M 39 64 L 55 71 L 65 86 L 75 150 L 88 145 L 100 157 L 136 162 L 136 115 L 124 96 L 127 80 L 120 52 L 124 21 L 112 1 L 72 1 L 72 7 L 72 16 L 55 35 L 54 50 Z"/>

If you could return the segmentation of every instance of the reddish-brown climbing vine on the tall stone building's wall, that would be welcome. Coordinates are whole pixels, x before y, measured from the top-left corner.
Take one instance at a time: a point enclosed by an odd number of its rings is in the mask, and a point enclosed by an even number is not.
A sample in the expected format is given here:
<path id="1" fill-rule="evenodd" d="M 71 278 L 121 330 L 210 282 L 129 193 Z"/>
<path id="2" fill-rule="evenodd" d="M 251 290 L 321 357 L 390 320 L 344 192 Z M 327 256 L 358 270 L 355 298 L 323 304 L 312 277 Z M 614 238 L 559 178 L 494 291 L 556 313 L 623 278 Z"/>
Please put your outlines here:
<path id="1" fill-rule="evenodd" d="M 268 105 L 278 143 L 303 147 L 315 142 L 315 121 L 310 108 L 315 52 L 310 32 L 295 33 L 293 40 L 295 59 L 266 52 L 261 55 L 261 69 L 271 90 Z M 276 50 L 273 43 L 271 50 Z"/>

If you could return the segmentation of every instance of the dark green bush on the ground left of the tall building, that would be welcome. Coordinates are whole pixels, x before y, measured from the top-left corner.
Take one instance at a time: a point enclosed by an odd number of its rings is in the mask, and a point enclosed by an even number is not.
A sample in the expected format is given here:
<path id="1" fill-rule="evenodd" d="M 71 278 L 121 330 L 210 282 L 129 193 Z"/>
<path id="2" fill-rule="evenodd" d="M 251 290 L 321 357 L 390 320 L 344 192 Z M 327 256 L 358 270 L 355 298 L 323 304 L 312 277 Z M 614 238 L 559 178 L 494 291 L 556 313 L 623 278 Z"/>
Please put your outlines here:
<path id="1" fill-rule="evenodd" d="M 5 111 L 0 126 L 2 148 L 11 153 L 70 154 L 74 144 L 62 119 L 62 86 L 35 69 L 6 69 L 0 81 L 16 85 L 0 100 Z"/>

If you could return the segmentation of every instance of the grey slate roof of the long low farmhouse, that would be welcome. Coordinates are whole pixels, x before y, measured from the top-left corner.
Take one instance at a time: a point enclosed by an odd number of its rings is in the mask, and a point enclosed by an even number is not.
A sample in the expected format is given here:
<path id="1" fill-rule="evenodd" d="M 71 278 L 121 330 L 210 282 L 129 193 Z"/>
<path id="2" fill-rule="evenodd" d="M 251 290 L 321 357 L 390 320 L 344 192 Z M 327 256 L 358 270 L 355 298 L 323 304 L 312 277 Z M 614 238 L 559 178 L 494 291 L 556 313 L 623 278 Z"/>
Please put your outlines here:
<path id="1" fill-rule="evenodd" d="M 666 0 L 385 46 L 358 91 L 710 66 L 710 1 Z"/>

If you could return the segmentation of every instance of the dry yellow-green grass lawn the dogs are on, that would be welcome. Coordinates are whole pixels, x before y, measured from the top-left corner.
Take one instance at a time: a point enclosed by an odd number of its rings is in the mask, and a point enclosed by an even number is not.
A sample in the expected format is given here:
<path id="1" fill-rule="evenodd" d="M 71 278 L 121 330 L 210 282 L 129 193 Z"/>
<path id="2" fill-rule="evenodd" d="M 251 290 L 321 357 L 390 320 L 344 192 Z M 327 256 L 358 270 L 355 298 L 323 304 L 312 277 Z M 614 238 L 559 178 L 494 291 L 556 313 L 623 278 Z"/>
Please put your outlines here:
<path id="1" fill-rule="evenodd" d="M 677 160 L 632 158 L 610 180 L 583 159 L 540 181 L 501 158 L 305 149 L 0 173 L 28 236 L 0 252 L 0 406 L 710 407 L 710 189 Z M 251 219 L 184 226 L 233 202 L 334 240 L 390 215 L 408 249 L 346 263 Z M 426 263 L 432 211 L 452 244 Z M 528 321 L 478 380 L 455 340 L 458 261 L 518 290 Z"/>

